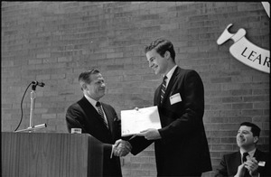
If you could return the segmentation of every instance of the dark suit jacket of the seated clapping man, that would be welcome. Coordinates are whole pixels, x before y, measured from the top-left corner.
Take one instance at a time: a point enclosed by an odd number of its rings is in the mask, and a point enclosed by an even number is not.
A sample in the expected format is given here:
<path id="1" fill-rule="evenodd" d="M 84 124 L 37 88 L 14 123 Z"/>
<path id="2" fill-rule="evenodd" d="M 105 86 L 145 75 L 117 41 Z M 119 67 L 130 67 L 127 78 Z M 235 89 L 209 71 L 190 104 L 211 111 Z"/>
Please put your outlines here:
<path id="1" fill-rule="evenodd" d="M 259 166 L 257 172 L 260 173 L 260 177 L 271 176 L 271 166 L 269 154 L 264 153 L 260 150 L 256 150 L 254 157 L 257 162 L 266 162 L 265 166 Z M 222 176 L 234 176 L 238 172 L 238 166 L 241 164 L 241 154 L 240 152 L 232 154 L 224 154 L 217 172 L 216 177 Z"/>

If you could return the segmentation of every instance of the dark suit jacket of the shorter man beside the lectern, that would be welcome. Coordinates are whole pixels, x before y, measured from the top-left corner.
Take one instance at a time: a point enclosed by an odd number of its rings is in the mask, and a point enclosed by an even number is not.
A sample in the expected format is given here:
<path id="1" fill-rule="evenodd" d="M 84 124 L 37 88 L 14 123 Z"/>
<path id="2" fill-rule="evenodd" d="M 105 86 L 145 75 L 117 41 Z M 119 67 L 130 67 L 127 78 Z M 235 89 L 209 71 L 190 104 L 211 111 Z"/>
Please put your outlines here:
<path id="1" fill-rule="evenodd" d="M 101 103 L 109 129 L 104 125 L 98 111 L 93 107 L 87 98 L 81 98 L 77 103 L 71 105 L 66 114 L 68 130 L 81 128 L 82 133 L 92 135 L 104 143 L 103 176 L 122 176 L 119 157 L 113 155 L 110 159 L 112 144 L 121 137 L 120 120 L 117 118 L 115 109 L 105 103 Z"/>

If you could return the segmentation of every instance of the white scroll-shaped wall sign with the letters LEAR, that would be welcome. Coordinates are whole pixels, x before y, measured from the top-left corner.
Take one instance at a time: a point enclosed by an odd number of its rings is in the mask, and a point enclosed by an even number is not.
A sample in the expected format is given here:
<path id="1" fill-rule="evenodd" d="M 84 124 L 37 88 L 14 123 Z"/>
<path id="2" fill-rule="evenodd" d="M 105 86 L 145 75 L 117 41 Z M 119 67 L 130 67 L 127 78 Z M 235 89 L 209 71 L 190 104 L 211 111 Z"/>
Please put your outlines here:
<path id="1" fill-rule="evenodd" d="M 249 42 L 243 28 L 239 29 L 237 33 L 229 33 L 228 30 L 231 26 L 232 23 L 229 23 L 217 43 L 221 45 L 229 39 L 233 40 L 234 43 L 229 47 L 229 52 L 234 58 L 253 69 L 270 73 L 270 51 Z"/>

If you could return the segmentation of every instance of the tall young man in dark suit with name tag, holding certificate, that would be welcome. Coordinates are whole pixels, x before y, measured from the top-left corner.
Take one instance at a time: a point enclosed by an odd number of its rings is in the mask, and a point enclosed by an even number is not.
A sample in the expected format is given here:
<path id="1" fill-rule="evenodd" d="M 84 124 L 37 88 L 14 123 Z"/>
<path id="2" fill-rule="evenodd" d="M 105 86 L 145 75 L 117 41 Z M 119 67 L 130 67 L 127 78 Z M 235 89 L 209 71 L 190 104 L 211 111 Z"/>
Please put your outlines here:
<path id="1" fill-rule="evenodd" d="M 211 171 L 199 74 L 176 65 L 173 43 L 167 40 L 152 42 L 145 47 L 145 53 L 155 74 L 167 77 L 154 93 L 162 128 L 147 129 L 131 139 L 131 153 L 138 154 L 154 142 L 158 176 L 201 176 Z"/>

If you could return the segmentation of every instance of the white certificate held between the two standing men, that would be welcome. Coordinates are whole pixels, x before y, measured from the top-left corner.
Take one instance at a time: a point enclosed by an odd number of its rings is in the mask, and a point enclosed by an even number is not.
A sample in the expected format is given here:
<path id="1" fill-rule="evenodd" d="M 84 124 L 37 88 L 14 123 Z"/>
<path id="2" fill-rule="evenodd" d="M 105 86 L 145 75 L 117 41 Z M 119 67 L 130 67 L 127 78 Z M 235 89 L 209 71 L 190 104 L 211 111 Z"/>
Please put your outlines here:
<path id="1" fill-rule="evenodd" d="M 121 135 L 135 135 L 148 128 L 161 128 L 157 106 L 120 111 Z"/>

